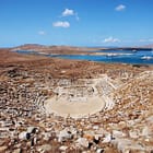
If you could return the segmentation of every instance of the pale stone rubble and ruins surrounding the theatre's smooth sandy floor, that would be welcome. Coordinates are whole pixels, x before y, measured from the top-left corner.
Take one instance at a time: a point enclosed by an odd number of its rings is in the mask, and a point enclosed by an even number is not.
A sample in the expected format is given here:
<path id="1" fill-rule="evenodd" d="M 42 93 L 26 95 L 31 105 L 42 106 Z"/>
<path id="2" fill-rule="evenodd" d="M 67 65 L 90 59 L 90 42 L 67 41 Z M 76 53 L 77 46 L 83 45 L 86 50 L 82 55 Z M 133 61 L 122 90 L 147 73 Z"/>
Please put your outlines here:
<path id="1" fill-rule="evenodd" d="M 108 69 L 72 80 L 67 71 L 67 78 L 54 78 L 46 64 L 39 71 L 5 67 L 0 69 L 0 153 L 153 152 L 153 70 L 121 75 Z M 105 108 L 78 119 L 46 114 L 44 107 L 56 95 L 73 103 L 97 94 Z"/>

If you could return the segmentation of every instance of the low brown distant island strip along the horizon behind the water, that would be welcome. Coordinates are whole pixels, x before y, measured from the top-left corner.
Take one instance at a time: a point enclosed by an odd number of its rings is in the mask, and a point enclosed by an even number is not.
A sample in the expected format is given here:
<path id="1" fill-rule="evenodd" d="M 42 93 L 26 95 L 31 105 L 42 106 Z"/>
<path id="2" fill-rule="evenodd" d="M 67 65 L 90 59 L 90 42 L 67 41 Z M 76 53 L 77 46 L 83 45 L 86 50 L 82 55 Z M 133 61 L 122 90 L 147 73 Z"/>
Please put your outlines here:
<path id="1" fill-rule="evenodd" d="M 33 50 L 37 52 L 45 52 L 45 54 L 61 54 L 61 55 L 75 55 L 75 54 L 85 54 L 85 55 L 93 55 L 91 52 L 93 50 L 152 50 L 153 45 L 146 46 L 137 46 L 137 47 L 76 47 L 76 46 L 45 46 L 38 44 L 25 44 L 17 47 L 11 48 L 12 51 L 16 50 Z"/>

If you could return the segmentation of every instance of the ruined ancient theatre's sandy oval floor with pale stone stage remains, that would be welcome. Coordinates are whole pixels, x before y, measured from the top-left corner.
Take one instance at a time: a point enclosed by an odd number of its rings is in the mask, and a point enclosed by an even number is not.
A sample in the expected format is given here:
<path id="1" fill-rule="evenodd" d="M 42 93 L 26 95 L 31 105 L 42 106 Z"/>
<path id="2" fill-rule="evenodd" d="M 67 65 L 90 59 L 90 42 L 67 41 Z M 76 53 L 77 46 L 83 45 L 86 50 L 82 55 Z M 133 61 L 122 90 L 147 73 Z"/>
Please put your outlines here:
<path id="1" fill-rule="evenodd" d="M 62 117 L 80 118 L 115 105 L 110 95 L 120 86 L 106 74 L 97 79 L 61 80 L 54 89 L 55 96 L 44 103 L 47 114 L 55 113 Z"/>

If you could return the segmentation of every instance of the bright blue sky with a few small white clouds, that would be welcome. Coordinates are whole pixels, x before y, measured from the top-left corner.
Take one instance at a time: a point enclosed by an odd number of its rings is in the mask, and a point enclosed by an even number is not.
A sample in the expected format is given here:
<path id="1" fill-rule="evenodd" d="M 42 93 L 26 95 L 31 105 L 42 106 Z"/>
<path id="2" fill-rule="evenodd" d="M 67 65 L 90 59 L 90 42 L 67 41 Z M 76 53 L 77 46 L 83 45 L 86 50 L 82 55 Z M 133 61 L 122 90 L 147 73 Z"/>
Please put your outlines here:
<path id="1" fill-rule="evenodd" d="M 0 47 L 153 44 L 153 0 L 0 0 Z"/>

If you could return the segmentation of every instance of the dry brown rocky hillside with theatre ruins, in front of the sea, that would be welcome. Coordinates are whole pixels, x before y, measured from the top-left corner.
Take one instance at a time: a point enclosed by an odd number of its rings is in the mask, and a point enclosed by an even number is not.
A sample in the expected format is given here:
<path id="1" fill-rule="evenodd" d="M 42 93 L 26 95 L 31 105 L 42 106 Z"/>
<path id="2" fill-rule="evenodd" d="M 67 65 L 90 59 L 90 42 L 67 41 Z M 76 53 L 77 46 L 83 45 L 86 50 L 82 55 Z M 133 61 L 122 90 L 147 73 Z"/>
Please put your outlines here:
<path id="1" fill-rule="evenodd" d="M 0 49 L 0 153 L 153 152 L 153 66 L 13 49 Z"/>

